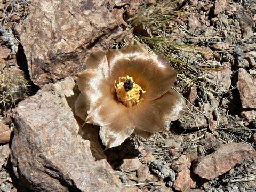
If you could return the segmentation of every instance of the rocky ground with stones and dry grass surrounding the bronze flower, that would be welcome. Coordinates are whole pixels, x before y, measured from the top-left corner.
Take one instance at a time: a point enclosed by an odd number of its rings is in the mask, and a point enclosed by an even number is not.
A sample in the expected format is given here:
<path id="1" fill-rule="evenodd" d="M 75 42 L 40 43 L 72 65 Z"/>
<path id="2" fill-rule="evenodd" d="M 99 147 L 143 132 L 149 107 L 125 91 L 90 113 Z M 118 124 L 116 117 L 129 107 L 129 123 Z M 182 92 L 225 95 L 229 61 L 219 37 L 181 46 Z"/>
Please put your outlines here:
<path id="1" fill-rule="evenodd" d="M 256 191 L 256 1 L 0 2 L 0 189 Z M 188 112 L 103 150 L 74 75 L 132 39 L 178 70 Z"/>

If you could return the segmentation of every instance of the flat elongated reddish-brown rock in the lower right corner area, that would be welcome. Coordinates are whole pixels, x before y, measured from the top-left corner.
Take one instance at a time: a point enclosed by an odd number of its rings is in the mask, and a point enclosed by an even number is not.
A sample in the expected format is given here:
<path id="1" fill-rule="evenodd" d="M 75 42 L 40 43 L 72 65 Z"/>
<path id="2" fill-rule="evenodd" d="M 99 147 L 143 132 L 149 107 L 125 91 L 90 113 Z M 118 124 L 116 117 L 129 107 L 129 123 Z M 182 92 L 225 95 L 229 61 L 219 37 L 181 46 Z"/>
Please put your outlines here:
<path id="1" fill-rule="evenodd" d="M 221 145 L 214 153 L 198 159 L 194 166 L 194 173 L 211 180 L 242 163 L 245 158 L 256 158 L 256 152 L 252 146 L 244 143 Z"/>

